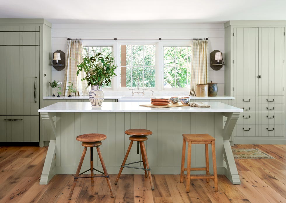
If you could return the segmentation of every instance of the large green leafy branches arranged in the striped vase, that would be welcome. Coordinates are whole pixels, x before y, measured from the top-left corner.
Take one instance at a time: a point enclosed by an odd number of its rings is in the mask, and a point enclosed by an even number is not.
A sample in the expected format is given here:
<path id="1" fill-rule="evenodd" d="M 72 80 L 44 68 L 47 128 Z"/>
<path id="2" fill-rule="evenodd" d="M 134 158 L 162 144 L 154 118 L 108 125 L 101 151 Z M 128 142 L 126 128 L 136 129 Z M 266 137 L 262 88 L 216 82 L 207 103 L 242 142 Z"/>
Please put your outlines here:
<path id="1" fill-rule="evenodd" d="M 86 50 L 85 50 L 86 51 Z M 88 86 L 90 85 L 108 85 L 111 83 L 112 77 L 116 76 L 114 70 L 117 66 L 114 65 L 114 58 L 110 57 L 110 54 L 104 58 L 102 53 L 95 53 L 94 56 L 82 56 L 82 63 L 79 63 L 77 67 L 79 70 L 76 72 L 79 75 L 80 71 L 86 73 L 86 77 L 81 81 L 86 80 Z"/>

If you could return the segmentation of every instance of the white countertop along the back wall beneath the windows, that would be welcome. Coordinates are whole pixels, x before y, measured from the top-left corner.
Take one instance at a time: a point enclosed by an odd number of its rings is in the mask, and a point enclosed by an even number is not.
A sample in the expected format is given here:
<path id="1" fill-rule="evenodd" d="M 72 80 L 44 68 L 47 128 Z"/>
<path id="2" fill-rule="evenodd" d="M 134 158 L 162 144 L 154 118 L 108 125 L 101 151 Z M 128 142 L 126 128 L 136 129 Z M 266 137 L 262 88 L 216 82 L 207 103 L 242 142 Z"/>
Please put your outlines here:
<path id="1" fill-rule="evenodd" d="M 131 97 L 131 95 L 128 95 L 128 97 Z M 175 95 L 176 96 L 176 95 Z M 120 96 L 120 95 L 105 95 L 104 99 L 120 99 L 121 97 L 126 97 L 126 96 Z M 134 97 L 138 97 L 137 95 Z M 170 98 L 172 96 L 170 95 L 155 95 L 154 97 L 163 97 L 163 98 Z M 179 98 L 181 97 L 190 97 L 190 99 L 234 99 L 234 97 L 230 97 L 230 96 L 217 96 L 217 97 L 196 97 L 196 96 L 179 96 Z M 152 98 L 152 96 L 145 96 L 141 98 Z M 72 96 L 72 97 L 68 97 L 68 96 L 60 96 L 60 97 L 52 97 L 52 96 L 48 96 L 48 97 L 43 97 L 43 99 L 88 99 L 88 96 Z"/>

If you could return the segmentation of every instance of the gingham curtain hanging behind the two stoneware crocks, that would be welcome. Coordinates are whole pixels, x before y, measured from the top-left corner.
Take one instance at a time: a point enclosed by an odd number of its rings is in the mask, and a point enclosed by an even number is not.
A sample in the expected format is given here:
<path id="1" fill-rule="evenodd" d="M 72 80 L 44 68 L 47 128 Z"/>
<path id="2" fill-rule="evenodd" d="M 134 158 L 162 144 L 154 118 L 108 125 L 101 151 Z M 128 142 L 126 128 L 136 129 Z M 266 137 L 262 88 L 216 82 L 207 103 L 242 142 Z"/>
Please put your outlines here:
<path id="1" fill-rule="evenodd" d="M 208 80 L 209 47 L 207 40 L 193 40 L 190 95 L 196 95 L 196 85 Z"/>

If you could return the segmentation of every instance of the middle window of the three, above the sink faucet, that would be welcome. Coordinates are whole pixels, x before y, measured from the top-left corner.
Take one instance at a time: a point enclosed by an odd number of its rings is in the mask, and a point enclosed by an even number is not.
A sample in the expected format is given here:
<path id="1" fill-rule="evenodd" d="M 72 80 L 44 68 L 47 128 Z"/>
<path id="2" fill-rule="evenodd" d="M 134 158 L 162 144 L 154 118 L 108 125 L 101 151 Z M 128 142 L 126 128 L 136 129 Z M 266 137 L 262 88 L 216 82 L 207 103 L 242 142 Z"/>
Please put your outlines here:
<path id="1" fill-rule="evenodd" d="M 120 86 L 155 88 L 155 44 L 132 44 L 120 46 Z"/>

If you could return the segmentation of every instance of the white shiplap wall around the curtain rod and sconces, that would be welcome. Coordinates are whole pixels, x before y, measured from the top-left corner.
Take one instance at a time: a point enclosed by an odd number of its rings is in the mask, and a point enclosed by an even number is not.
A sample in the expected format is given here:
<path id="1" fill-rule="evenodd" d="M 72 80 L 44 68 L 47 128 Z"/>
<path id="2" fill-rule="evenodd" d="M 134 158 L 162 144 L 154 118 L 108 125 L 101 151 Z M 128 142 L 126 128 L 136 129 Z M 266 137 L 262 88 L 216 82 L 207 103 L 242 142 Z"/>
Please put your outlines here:
<path id="1" fill-rule="evenodd" d="M 223 24 L 53 24 L 52 53 L 66 53 L 67 38 L 209 38 L 209 53 L 217 49 L 224 58 Z M 63 82 L 64 73 L 52 67 L 52 81 Z M 214 71 L 209 64 L 209 75 L 224 95 L 224 67 Z"/>

